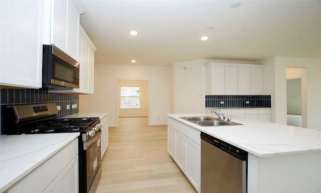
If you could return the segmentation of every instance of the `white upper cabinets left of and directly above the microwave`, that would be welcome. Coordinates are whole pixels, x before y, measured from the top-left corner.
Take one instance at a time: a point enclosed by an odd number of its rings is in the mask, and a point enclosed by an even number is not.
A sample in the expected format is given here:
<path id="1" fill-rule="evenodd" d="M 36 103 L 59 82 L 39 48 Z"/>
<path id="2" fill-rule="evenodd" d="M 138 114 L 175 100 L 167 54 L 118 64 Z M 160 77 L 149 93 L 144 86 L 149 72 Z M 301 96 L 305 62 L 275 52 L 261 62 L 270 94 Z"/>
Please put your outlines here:
<path id="1" fill-rule="evenodd" d="M 0 85 L 42 87 L 43 44 L 79 60 L 81 1 L 0 1 Z"/>

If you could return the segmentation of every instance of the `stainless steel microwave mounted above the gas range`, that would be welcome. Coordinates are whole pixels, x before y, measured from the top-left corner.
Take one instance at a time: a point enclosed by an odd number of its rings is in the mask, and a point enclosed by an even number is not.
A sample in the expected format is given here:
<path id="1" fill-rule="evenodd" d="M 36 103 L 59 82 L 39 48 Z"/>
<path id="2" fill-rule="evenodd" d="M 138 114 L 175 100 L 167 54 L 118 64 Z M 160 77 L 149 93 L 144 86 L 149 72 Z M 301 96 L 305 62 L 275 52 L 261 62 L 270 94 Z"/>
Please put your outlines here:
<path id="1" fill-rule="evenodd" d="M 79 88 L 79 62 L 53 45 L 43 45 L 43 86 Z"/>

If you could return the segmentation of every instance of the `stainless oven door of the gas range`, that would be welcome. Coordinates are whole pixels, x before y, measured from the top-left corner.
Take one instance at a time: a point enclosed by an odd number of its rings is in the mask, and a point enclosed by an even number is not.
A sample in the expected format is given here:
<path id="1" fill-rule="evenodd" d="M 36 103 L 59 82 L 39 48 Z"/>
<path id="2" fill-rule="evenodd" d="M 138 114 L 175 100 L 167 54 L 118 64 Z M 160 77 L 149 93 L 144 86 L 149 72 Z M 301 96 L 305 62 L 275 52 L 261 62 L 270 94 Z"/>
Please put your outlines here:
<path id="1" fill-rule="evenodd" d="M 89 189 L 95 192 L 96 186 L 100 178 L 100 168 L 101 162 L 101 132 L 98 131 L 94 137 L 88 139 L 84 142 L 84 148 L 86 149 L 86 173 L 87 173 L 87 192 Z M 94 187 L 91 187 L 94 186 Z"/>

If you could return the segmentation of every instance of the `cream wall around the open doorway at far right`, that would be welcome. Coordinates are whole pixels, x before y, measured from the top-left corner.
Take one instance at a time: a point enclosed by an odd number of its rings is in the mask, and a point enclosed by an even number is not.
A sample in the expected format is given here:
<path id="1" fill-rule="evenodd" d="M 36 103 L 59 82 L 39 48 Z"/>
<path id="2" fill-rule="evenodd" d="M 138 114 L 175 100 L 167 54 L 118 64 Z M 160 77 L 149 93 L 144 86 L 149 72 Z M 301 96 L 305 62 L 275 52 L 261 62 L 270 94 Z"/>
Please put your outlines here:
<path id="1" fill-rule="evenodd" d="M 302 101 L 306 101 L 306 112 L 303 112 L 305 110 L 302 104 L 302 115 L 307 115 L 307 128 L 321 128 L 318 113 L 321 109 L 321 60 L 277 56 L 261 60 L 259 63 L 264 65 L 264 92 L 271 94 L 272 122 L 286 125 L 286 67 L 301 67 L 306 69 L 307 93 L 306 99 L 302 96 Z"/>

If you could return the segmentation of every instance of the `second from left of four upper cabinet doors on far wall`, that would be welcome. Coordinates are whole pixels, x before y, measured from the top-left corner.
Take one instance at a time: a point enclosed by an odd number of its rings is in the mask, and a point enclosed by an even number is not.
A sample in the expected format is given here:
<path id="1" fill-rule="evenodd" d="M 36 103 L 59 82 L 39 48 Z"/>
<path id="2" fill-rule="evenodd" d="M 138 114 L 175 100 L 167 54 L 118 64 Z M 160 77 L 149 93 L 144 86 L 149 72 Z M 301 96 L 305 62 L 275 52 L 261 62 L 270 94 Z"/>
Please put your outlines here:
<path id="1" fill-rule="evenodd" d="M 237 67 L 225 66 L 225 95 L 236 95 L 238 93 Z"/>

